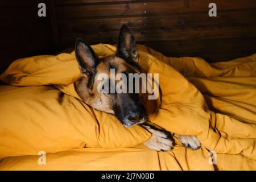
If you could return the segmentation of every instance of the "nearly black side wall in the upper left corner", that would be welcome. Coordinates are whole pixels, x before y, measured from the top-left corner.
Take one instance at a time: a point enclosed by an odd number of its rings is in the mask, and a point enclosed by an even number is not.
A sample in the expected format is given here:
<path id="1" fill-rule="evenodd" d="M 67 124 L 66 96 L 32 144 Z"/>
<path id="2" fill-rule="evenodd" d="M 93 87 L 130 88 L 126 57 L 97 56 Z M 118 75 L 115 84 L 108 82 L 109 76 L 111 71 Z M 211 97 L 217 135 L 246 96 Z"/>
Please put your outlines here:
<path id="1" fill-rule="evenodd" d="M 48 5 L 46 0 L 0 1 L 0 71 L 20 57 L 54 52 L 49 16 L 38 16 L 40 2 Z"/>

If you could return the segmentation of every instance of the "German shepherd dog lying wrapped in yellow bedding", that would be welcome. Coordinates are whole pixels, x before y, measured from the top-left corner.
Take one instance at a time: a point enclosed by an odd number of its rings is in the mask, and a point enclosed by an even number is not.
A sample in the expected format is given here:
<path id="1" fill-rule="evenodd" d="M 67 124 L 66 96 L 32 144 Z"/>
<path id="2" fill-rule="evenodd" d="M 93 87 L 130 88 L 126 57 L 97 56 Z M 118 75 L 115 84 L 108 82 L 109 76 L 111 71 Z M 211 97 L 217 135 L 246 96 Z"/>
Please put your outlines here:
<path id="1" fill-rule="evenodd" d="M 75 53 L 82 75 L 75 85 L 77 93 L 85 104 L 114 114 L 125 127 L 139 124 L 150 131 L 151 137 L 143 144 L 151 150 L 169 151 L 173 148 L 175 142 L 169 132 L 146 122 L 147 113 L 141 100 L 142 94 L 97 92 L 99 81 L 96 77 L 100 73 L 109 75 L 110 69 L 115 69 L 115 73 L 141 73 L 141 68 L 137 64 L 139 55 L 135 39 L 125 24 L 119 30 L 117 52 L 114 55 L 100 59 L 81 38 L 76 40 Z M 195 136 L 178 134 L 175 136 L 185 147 L 193 150 L 200 148 L 201 144 Z"/>

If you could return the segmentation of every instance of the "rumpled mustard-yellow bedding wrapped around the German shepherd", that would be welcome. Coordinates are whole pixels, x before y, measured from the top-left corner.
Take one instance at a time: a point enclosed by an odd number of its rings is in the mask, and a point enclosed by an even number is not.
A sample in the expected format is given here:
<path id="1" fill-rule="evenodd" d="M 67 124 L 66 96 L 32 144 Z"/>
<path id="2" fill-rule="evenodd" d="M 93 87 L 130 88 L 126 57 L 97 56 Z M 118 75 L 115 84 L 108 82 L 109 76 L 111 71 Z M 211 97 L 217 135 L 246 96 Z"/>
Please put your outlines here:
<path id="1" fill-rule="evenodd" d="M 115 52 L 108 44 L 92 48 L 99 56 Z M 74 52 L 61 53 L 16 60 L 1 75 L 9 85 L 0 86 L 0 169 L 255 170 L 256 54 L 208 64 L 144 46 L 138 51 L 144 71 L 159 73 L 162 90 L 150 121 L 196 135 L 202 148 L 176 140 L 170 152 L 148 150 L 141 143 L 150 133 L 125 128 L 80 100 Z M 47 152 L 46 165 L 38 164 L 39 151 Z"/>

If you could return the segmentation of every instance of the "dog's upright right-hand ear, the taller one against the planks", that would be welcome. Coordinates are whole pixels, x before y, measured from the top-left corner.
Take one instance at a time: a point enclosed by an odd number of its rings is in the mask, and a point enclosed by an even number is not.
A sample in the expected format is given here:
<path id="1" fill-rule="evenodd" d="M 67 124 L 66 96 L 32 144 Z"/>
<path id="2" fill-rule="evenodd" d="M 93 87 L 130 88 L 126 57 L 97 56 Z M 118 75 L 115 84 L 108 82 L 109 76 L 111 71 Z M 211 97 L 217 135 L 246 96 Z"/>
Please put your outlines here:
<path id="1" fill-rule="evenodd" d="M 139 60 L 134 36 L 126 24 L 123 24 L 119 31 L 116 55 L 127 61 L 134 61 L 135 63 Z"/>

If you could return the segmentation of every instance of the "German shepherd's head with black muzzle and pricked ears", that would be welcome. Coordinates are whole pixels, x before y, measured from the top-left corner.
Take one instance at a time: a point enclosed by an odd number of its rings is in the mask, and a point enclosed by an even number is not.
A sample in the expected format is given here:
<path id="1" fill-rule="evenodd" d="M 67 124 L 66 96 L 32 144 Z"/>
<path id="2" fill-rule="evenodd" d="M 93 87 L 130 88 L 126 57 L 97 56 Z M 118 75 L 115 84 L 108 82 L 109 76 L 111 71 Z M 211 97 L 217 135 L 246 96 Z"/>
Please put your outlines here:
<path id="1" fill-rule="evenodd" d="M 138 51 L 134 36 L 129 28 L 123 25 L 119 31 L 117 52 L 114 55 L 100 59 L 93 49 L 82 39 L 76 40 L 75 45 L 76 59 L 82 78 L 76 82 L 77 92 L 82 100 L 92 106 L 94 109 L 112 113 L 126 127 L 143 123 L 147 119 L 146 110 L 142 104 L 140 93 L 111 93 L 110 86 L 104 88 L 102 81 L 98 80 L 99 75 L 104 73 L 108 75 L 108 85 L 117 84 L 119 81 L 113 79 L 110 75 L 114 70 L 114 74 L 122 73 L 126 76 L 129 73 L 141 73 L 139 68 Z M 101 89 L 109 92 L 98 92 L 98 85 Z M 126 82 L 127 89 L 135 85 L 129 85 Z M 135 82 L 134 82 L 135 84 Z"/>

